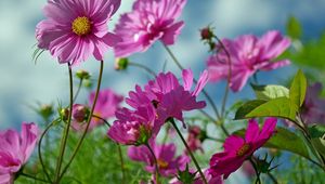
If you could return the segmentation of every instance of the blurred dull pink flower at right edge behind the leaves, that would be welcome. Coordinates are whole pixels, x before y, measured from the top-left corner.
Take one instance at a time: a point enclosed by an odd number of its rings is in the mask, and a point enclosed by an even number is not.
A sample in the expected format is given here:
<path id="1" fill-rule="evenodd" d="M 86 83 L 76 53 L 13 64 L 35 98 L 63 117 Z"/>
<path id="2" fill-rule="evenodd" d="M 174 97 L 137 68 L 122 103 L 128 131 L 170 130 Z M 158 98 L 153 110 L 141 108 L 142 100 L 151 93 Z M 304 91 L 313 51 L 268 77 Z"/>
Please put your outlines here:
<path id="1" fill-rule="evenodd" d="M 307 123 L 325 123 L 325 100 L 320 98 L 322 84 L 308 87 L 302 110 L 302 119 Z"/>

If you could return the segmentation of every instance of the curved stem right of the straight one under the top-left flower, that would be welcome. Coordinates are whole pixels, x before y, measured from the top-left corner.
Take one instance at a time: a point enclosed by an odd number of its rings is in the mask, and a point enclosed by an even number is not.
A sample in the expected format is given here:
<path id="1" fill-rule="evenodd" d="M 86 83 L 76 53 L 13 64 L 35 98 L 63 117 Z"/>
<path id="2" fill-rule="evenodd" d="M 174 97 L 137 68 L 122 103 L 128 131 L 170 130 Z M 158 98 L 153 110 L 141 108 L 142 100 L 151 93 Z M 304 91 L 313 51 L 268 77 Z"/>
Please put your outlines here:
<path id="1" fill-rule="evenodd" d="M 63 178 L 63 175 L 65 174 L 65 172 L 67 171 L 67 169 L 72 165 L 73 160 L 75 159 L 75 157 L 76 157 L 76 155 L 77 155 L 79 148 L 81 147 L 81 144 L 82 144 L 84 137 L 86 137 L 86 134 L 88 132 L 88 129 L 89 129 L 89 126 L 90 126 L 90 121 L 92 119 L 92 115 L 93 115 L 93 111 L 94 111 L 94 108 L 95 108 L 95 105 L 96 105 L 96 102 L 98 102 L 99 93 L 100 93 L 100 90 L 101 90 L 101 83 L 102 83 L 102 77 L 103 77 L 103 69 L 104 69 L 104 62 L 101 61 L 101 67 L 100 67 L 100 75 L 99 75 L 99 80 L 98 80 L 96 92 L 95 92 L 93 104 L 92 104 L 92 107 L 91 107 L 91 110 L 90 110 L 90 116 L 88 117 L 88 120 L 87 120 L 86 129 L 84 129 L 84 131 L 83 131 L 83 133 L 81 135 L 81 139 L 77 143 L 77 146 L 76 146 L 75 150 L 73 152 L 73 155 L 72 155 L 70 159 L 68 160 L 67 165 L 63 169 L 63 171 L 62 171 L 62 173 L 61 173 L 57 182 L 60 182 L 60 180 Z"/>

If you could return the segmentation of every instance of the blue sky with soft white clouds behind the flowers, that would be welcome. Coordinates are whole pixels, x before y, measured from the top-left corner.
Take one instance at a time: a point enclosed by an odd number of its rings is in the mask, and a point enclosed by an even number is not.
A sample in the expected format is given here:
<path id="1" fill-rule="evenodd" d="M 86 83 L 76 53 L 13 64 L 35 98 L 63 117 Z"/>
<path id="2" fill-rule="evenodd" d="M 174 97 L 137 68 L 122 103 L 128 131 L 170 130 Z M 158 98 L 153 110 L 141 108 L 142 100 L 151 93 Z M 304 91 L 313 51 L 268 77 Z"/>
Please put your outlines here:
<path id="1" fill-rule="evenodd" d="M 0 129 L 20 127 L 22 121 L 39 120 L 28 107 L 36 102 L 66 102 L 68 95 L 67 68 L 58 65 L 48 52 L 37 63 L 31 61 L 32 45 L 36 43 L 35 26 L 43 18 L 42 6 L 46 0 L 1 0 L 0 1 Z M 122 0 L 122 13 L 131 8 L 131 0 Z M 198 75 L 205 68 L 207 58 L 206 47 L 199 42 L 198 29 L 212 24 L 219 37 L 234 38 L 242 34 L 262 35 L 269 29 L 284 31 L 288 16 L 298 17 L 304 27 L 304 39 L 316 38 L 324 30 L 325 1 L 323 0 L 188 0 L 182 17 L 186 26 L 176 45 L 171 47 L 176 55 L 186 67 Z M 115 15 L 108 25 L 113 29 L 118 19 Z M 127 94 L 136 82 L 145 82 L 147 76 L 141 70 L 131 69 L 127 73 L 114 70 L 113 53 L 105 56 L 105 74 L 103 88 Z M 148 52 L 134 54 L 134 62 L 141 62 L 155 69 L 168 62 L 168 70 L 180 71 L 170 57 L 157 43 Z M 88 69 L 98 75 L 99 63 L 89 60 L 79 68 Z M 286 67 L 276 71 L 260 75 L 264 83 L 276 83 L 294 69 Z M 220 84 L 209 84 L 207 89 L 219 102 L 223 90 Z M 81 93 L 84 96 L 86 93 Z M 240 96 L 251 96 L 249 88 L 242 94 L 233 94 L 231 102 Z M 81 96 L 80 103 L 86 98 Z"/>

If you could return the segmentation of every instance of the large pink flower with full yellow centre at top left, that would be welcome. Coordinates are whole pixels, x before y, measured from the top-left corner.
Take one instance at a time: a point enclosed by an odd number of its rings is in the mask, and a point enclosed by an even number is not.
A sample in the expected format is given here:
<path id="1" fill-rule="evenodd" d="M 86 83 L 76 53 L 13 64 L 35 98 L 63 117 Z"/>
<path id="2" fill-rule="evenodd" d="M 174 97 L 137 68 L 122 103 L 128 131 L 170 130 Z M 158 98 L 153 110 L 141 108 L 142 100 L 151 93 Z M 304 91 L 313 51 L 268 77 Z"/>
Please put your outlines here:
<path id="1" fill-rule="evenodd" d="M 49 50 L 61 64 L 75 65 L 91 54 L 103 60 L 107 49 L 120 40 L 108 32 L 106 24 L 119 5 L 120 0 L 48 1 L 47 19 L 36 28 L 38 47 Z"/>

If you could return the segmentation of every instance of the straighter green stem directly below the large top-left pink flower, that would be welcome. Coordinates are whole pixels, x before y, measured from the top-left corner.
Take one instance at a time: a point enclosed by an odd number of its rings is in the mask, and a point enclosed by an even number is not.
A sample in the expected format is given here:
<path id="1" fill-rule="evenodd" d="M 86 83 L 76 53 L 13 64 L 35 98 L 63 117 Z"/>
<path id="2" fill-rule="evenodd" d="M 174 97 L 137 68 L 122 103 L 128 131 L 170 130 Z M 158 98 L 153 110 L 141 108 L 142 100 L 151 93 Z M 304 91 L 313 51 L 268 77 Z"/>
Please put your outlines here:
<path id="1" fill-rule="evenodd" d="M 60 147 L 60 154 L 56 162 L 56 169 L 55 169 L 55 178 L 54 183 L 60 183 L 60 172 L 61 167 L 63 162 L 63 157 L 66 148 L 67 137 L 70 130 L 70 122 L 72 122 L 72 116 L 73 116 L 73 105 L 74 105 L 74 82 L 73 82 L 73 69 L 70 64 L 68 63 L 68 70 L 69 70 L 69 88 L 70 88 L 70 108 L 69 108 L 69 116 L 68 121 L 65 126 L 65 130 L 61 140 L 61 147 Z"/>

